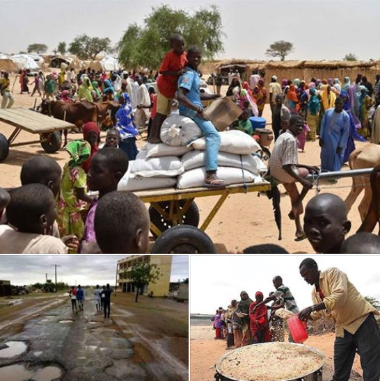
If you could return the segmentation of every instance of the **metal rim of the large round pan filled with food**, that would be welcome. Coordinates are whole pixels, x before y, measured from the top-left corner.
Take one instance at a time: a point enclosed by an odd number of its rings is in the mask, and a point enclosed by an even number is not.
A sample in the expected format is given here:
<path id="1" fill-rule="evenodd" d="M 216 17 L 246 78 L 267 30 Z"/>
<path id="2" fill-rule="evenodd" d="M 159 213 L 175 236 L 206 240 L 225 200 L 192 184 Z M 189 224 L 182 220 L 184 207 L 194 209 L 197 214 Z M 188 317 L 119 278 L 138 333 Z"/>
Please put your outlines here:
<path id="1" fill-rule="evenodd" d="M 274 343 L 261 343 L 261 344 L 253 344 L 255 346 L 271 346 Z M 298 344 L 298 343 L 287 343 L 287 344 L 292 344 L 292 346 L 300 346 L 302 348 L 306 348 L 310 350 L 311 352 L 317 353 L 321 357 L 321 365 L 319 365 L 315 370 L 312 370 L 310 373 L 305 374 L 305 375 L 299 375 L 296 378 L 292 379 L 287 379 L 287 380 L 281 380 L 281 381 L 297 381 L 297 380 L 302 380 L 302 381 L 322 381 L 322 368 L 324 366 L 324 354 L 320 351 L 317 350 L 316 348 L 312 348 L 309 346 L 304 346 L 303 344 Z M 221 363 L 225 359 L 225 357 L 229 357 L 232 355 L 232 353 L 236 353 L 240 350 L 244 350 L 246 347 L 243 348 L 238 348 L 235 350 L 232 350 L 232 352 L 227 352 L 225 355 L 223 355 L 215 364 L 216 368 L 216 374 L 215 374 L 215 379 L 220 380 L 220 381 L 249 381 L 249 380 L 237 380 L 237 378 L 233 378 L 229 375 L 225 375 L 221 373 Z"/>

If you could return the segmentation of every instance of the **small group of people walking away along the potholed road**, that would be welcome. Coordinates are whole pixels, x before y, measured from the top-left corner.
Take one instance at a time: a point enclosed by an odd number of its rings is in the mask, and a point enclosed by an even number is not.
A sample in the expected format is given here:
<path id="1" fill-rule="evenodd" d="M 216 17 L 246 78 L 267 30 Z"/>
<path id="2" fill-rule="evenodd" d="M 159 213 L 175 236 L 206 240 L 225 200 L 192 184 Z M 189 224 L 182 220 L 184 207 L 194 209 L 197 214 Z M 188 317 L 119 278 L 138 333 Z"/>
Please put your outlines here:
<path id="1" fill-rule="evenodd" d="M 103 311 L 104 318 L 109 318 L 111 311 L 111 293 L 113 293 L 113 289 L 111 289 L 108 283 L 106 286 L 103 286 L 102 289 L 100 289 L 100 286 L 97 284 L 93 291 L 96 312 L 100 314 Z M 72 313 L 78 314 L 79 312 L 83 312 L 85 293 L 80 284 L 77 287 L 71 287 L 69 297 L 71 300 Z"/>

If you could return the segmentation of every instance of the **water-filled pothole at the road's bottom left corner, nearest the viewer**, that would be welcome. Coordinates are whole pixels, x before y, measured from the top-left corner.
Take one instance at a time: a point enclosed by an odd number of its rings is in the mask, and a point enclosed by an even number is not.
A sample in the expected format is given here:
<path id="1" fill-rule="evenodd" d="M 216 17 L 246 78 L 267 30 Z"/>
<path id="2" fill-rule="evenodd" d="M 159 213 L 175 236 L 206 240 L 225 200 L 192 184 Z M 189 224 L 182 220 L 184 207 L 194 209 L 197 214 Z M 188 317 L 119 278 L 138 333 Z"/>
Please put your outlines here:
<path id="1" fill-rule="evenodd" d="M 24 364 L 14 364 L 0 368 L 0 380 L 7 381 L 53 381 L 61 375 L 62 371 L 57 366 L 28 370 Z"/>

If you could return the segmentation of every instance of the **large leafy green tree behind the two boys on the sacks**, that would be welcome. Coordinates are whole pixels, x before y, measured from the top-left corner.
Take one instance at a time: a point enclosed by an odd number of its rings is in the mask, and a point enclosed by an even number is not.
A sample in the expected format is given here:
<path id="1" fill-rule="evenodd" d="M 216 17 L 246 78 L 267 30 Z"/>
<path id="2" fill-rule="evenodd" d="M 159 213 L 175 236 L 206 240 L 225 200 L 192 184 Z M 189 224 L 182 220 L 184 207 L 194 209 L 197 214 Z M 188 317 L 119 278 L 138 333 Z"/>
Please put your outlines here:
<path id="1" fill-rule="evenodd" d="M 130 24 L 118 43 L 119 59 L 127 67 L 159 67 L 170 47 L 173 33 L 184 36 L 187 47 L 198 45 L 205 58 L 223 51 L 224 33 L 216 6 L 200 8 L 193 15 L 170 6 L 152 8 L 144 25 Z"/>

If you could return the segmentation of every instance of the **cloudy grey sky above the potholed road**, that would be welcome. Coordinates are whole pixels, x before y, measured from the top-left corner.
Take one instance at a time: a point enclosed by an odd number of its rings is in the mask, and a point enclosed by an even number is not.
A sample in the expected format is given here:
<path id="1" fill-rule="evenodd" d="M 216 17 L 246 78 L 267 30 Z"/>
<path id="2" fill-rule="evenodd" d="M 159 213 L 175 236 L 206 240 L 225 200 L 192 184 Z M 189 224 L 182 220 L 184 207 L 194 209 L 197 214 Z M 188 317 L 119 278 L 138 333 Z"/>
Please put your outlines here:
<path id="1" fill-rule="evenodd" d="M 45 274 L 54 282 L 54 264 L 57 281 L 74 284 L 115 284 L 116 264 L 125 255 L 1 255 L 0 279 L 11 284 L 45 283 Z M 173 255 L 171 282 L 189 277 L 189 257 Z"/>

